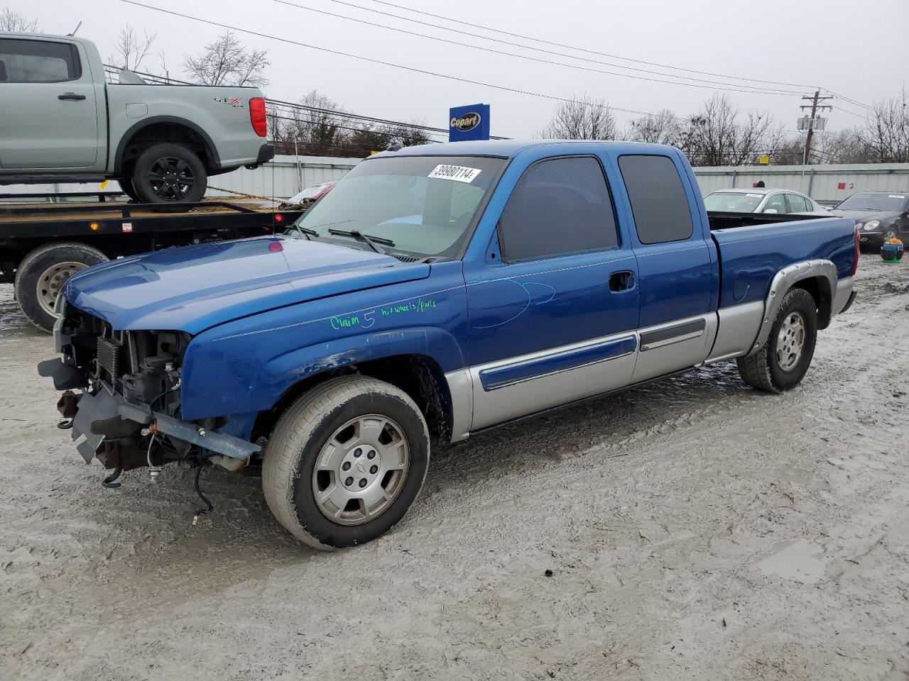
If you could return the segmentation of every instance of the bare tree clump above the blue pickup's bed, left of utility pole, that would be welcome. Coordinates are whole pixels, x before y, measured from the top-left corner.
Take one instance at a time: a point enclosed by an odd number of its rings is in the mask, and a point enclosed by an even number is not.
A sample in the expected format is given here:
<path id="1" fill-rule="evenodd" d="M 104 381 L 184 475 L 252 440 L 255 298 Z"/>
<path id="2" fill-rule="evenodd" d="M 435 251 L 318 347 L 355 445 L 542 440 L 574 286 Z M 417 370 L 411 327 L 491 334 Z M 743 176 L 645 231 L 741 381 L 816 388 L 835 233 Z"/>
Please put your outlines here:
<path id="1" fill-rule="evenodd" d="M 728 94 L 714 94 L 684 128 L 681 148 L 694 165 L 745 165 L 781 142 L 768 114 L 741 116 Z"/>

